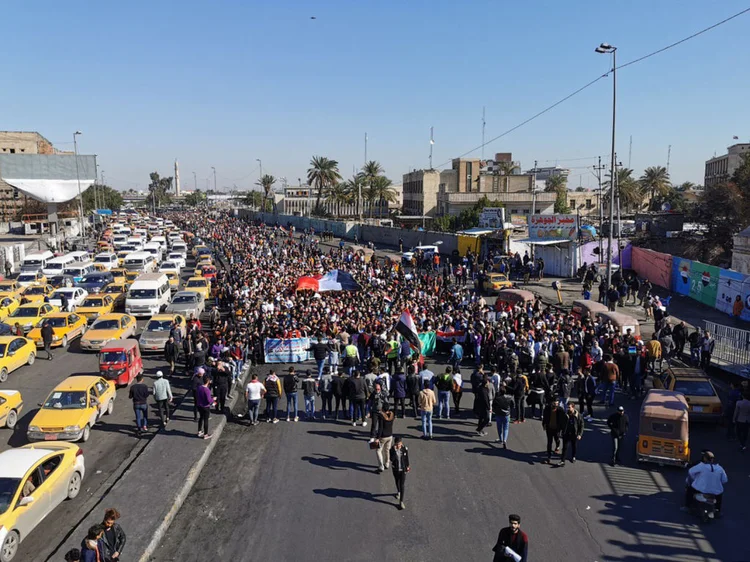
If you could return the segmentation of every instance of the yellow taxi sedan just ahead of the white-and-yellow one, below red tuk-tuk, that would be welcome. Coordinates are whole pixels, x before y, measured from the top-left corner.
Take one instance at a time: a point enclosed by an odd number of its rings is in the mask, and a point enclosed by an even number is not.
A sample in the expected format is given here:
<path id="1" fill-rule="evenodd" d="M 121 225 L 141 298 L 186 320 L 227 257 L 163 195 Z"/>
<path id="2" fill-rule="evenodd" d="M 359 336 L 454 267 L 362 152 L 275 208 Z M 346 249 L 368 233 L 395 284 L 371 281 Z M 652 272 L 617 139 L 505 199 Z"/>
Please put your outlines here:
<path id="1" fill-rule="evenodd" d="M 73 375 L 58 384 L 29 422 L 29 441 L 88 441 L 91 428 L 115 409 L 113 382 Z"/>

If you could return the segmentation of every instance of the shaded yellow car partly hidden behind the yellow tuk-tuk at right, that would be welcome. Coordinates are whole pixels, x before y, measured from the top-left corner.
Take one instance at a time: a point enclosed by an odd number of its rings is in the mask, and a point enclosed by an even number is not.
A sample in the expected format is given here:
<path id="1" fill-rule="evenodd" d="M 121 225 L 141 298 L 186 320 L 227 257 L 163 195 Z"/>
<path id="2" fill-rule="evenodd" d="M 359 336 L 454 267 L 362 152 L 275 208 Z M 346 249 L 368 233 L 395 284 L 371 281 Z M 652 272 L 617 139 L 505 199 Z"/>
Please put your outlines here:
<path id="1" fill-rule="evenodd" d="M 721 419 L 721 398 L 702 369 L 670 366 L 660 375 L 654 376 L 654 388 L 683 394 L 688 403 L 688 417 L 691 421 Z"/>

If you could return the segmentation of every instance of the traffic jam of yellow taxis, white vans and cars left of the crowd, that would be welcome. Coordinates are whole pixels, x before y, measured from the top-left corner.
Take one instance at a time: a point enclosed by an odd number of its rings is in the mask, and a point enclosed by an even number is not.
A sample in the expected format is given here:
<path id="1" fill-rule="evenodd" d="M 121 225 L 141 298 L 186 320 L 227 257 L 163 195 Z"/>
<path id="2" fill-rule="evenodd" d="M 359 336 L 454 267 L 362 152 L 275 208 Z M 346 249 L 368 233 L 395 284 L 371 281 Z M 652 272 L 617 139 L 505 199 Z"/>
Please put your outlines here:
<path id="1" fill-rule="evenodd" d="M 196 248 L 192 239 L 169 220 L 115 214 L 95 254 L 27 254 L 20 273 L 0 281 L 3 386 L 12 388 L 19 370 L 74 341 L 80 353 L 95 354 L 91 370 L 98 371 L 70 373 L 35 413 L 21 391 L 0 388 L 0 427 L 22 432 L 22 412 L 33 413 L 26 443 L 0 453 L 0 562 L 12 560 L 49 513 L 79 494 L 86 467 L 76 443 L 113 413 L 118 389 L 127 392 L 143 373 L 143 354 L 163 352 L 170 332 L 184 335 L 206 309 L 217 268 L 211 248 Z M 188 260 L 197 265 L 187 270 Z M 182 273 L 189 279 L 181 287 Z"/>

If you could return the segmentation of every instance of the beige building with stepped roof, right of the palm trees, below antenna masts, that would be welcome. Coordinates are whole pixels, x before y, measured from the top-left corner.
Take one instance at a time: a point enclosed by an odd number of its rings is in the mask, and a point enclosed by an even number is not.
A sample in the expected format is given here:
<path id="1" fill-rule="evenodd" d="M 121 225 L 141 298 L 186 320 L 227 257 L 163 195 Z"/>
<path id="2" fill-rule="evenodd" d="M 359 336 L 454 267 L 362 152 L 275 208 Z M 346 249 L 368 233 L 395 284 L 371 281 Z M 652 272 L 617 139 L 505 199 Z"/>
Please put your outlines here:
<path id="1" fill-rule="evenodd" d="M 512 162 L 511 154 L 496 161 Z M 458 215 L 470 209 L 483 198 L 504 206 L 506 215 L 548 214 L 554 209 L 554 193 L 535 193 L 534 176 L 530 174 L 509 174 L 482 172 L 480 161 L 457 158 L 451 170 L 441 172 L 441 183 L 437 194 L 438 215 Z M 484 167 L 489 170 L 488 166 Z M 513 169 L 518 169 L 514 166 Z"/>

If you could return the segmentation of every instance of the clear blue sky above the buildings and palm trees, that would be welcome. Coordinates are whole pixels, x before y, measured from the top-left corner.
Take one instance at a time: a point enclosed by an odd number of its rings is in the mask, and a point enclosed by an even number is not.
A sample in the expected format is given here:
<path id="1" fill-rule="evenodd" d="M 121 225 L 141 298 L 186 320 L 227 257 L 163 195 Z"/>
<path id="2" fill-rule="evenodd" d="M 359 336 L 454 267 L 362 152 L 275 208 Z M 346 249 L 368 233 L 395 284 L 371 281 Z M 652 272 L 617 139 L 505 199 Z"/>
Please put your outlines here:
<path id="1" fill-rule="evenodd" d="M 251 189 L 305 178 L 310 158 L 350 177 L 378 160 L 394 183 L 522 123 L 611 67 L 750 7 L 724 0 L 12 2 L 3 7 L 0 130 L 96 154 L 105 181 Z M 311 17 L 316 19 L 311 19 Z M 703 183 L 706 159 L 750 142 L 750 13 L 617 73 L 618 160 Z M 612 77 L 471 157 L 571 168 L 593 188 L 609 160 Z M 631 139 L 632 137 L 632 149 Z M 195 176 L 193 175 L 195 172 Z M 194 182 L 194 177 L 197 181 Z M 257 189 L 257 188 L 256 188 Z"/>

